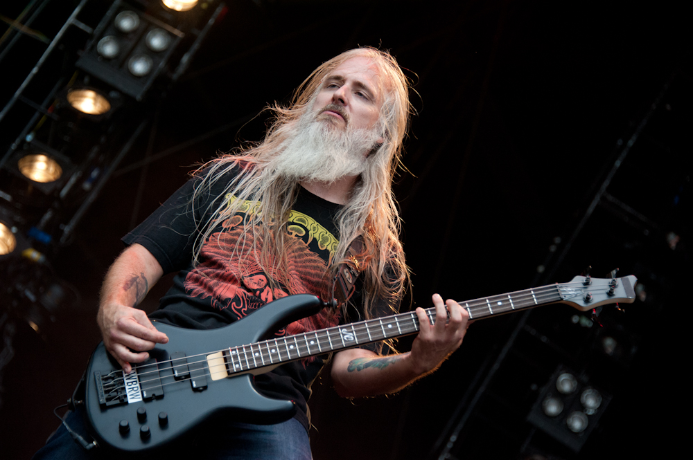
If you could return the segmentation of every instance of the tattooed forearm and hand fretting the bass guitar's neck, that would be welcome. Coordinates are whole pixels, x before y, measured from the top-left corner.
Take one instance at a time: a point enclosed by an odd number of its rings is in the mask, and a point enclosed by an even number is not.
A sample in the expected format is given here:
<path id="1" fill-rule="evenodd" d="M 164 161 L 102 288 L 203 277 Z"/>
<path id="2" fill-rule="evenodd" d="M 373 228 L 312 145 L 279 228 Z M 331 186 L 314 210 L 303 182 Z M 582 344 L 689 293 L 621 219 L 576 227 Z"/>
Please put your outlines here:
<path id="1" fill-rule="evenodd" d="M 437 294 L 433 304 L 435 324 L 430 324 L 423 309 L 416 309 L 420 330 L 412 351 L 392 356 L 358 348 L 336 353 L 331 376 L 337 393 L 345 398 L 394 393 L 435 371 L 462 344 L 469 315 L 453 300 L 443 302 Z"/>

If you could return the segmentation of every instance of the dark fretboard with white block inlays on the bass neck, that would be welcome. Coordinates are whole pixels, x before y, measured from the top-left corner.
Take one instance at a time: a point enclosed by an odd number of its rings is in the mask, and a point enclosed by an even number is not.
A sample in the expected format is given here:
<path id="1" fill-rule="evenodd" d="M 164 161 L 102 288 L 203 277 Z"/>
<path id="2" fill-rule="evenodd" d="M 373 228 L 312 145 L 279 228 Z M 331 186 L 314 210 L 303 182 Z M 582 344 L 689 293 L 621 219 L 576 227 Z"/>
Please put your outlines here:
<path id="1" fill-rule="evenodd" d="M 493 315 L 502 315 L 538 305 L 559 302 L 566 297 L 566 293 L 570 296 L 570 291 L 572 291 L 571 288 L 554 284 L 468 300 L 459 302 L 459 304 L 469 313 L 471 320 L 480 320 Z M 426 309 L 426 315 L 428 315 L 430 323 L 433 324 L 436 320 L 435 307 Z M 398 338 L 418 331 L 419 317 L 416 316 L 416 313 L 400 313 L 375 320 L 354 322 L 319 331 L 288 335 L 283 338 L 233 347 L 225 350 L 224 354 L 229 374 L 236 374 L 330 351 Z"/>

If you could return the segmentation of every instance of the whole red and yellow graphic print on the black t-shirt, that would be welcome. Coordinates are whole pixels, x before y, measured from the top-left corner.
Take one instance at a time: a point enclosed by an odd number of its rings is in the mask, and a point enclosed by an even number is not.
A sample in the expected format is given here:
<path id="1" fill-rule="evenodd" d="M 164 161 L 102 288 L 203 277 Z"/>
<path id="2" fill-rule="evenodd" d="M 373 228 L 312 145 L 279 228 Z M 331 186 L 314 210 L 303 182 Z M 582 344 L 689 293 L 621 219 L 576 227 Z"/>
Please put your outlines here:
<path id="1" fill-rule="evenodd" d="M 235 197 L 229 199 L 229 203 Z M 209 298 L 214 310 L 227 311 L 240 320 L 272 300 L 286 297 L 290 293 L 309 293 L 324 297 L 331 286 L 325 273 L 331 263 L 339 240 L 312 217 L 293 210 L 290 213 L 285 239 L 288 271 L 288 286 L 275 282 L 270 284 L 268 275 L 277 279 L 273 261 L 267 264 L 265 273 L 253 255 L 233 257 L 229 254 L 250 254 L 255 245 L 260 252 L 265 242 L 254 239 L 247 226 L 247 212 L 256 212 L 259 205 L 250 210 L 249 202 L 243 203 L 240 212 L 221 223 L 222 230 L 211 234 L 202 245 L 200 265 L 188 273 L 184 287 L 194 297 Z M 242 214 L 241 214 L 242 213 Z M 272 235 L 272 238 L 274 235 Z M 238 245 L 238 248 L 236 248 Z M 322 311 L 309 318 L 292 322 L 277 335 L 295 335 L 337 325 L 338 318 Z"/>

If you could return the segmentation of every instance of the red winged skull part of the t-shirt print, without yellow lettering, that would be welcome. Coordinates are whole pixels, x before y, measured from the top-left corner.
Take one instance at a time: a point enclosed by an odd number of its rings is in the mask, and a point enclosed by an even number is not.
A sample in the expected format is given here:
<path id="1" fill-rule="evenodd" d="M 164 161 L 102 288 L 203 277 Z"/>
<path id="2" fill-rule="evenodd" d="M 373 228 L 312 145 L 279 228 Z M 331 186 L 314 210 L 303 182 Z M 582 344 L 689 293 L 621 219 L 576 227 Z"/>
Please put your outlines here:
<path id="1" fill-rule="evenodd" d="M 237 320 L 245 318 L 272 300 L 286 297 L 289 293 L 323 296 L 328 292 L 325 261 L 297 237 L 289 237 L 285 242 L 288 286 L 272 288 L 267 274 L 261 270 L 252 256 L 241 257 L 242 260 L 234 256 L 234 259 L 229 260 L 230 254 L 247 255 L 253 241 L 252 232 L 247 232 L 243 225 L 231 224 L 231 228 L 227 228 L 226 231 L 212 234 L 202 245 L 202 264 L 188 273 L 185 279 L 186 291 L 202 299 L 209 297 L 213 309 L 228 309 Z M 262 250 L 263 243 L 261 239 L 256 241 L 258 252 Z M 274 276 L 273 266 L 271 262 L 267 264 L 272 270 L 270 276 Z M 335 315 L 321 311 L 317 315 L 292 322 L 286 326 L 286 330 L 278 331 L 277 335 L 296 335 L 336 325 Z"/>

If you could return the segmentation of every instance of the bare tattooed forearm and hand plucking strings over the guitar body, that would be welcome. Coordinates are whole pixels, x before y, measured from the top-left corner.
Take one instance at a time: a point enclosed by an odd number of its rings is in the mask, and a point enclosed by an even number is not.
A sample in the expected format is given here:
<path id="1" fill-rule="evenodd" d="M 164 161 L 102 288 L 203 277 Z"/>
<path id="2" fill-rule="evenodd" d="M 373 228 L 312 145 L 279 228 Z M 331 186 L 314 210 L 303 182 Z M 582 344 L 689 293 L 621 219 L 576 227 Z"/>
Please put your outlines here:
<path id="1" fill-rule="evenodd" d="M 135 243 L 114 261 L 101 287 L 98 326 L 106 349 L 126 373 L 131 362 L 147 360 L 146 351 L 155 344 L 168 342 L 146 313 L 134 308 L 163 274 L 152 253 Z"/>

